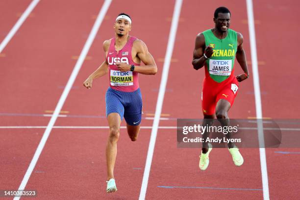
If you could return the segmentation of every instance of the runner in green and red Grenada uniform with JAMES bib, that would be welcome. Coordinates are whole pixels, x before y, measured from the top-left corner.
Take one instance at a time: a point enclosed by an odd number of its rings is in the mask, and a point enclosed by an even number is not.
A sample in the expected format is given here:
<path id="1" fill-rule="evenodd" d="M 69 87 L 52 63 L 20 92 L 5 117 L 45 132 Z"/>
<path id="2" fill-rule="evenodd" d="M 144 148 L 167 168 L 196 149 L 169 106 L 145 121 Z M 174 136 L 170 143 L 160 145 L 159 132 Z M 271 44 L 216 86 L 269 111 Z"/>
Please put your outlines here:
<path id="1" fill-rule="evenodd" d="M 197 35 L 193 66 L 199 70 L 205 66 L 205 78 L 202 89 L 203 125 L 211 125 L 217 117 L 221 125 L 228 126 L 228 111 L 238 91 L 238 82 L 249 77 L 246 54 L 243 50 L 242 34 L 229 29 L 230 11 L 219 7 L 214 13 L 215 27 Z M 234 59 L 237 59 L 244 74 L 234 76 Z M 209 132 L 203 135 L 204 140 Z M 231 134 L 226 134 L 227 138 Z M 199 167 L 206 170 L 209 164 L 210 143 L 202 144 Z M 228 143 L 228 150 L 236 166 L 244 163 L 243 156 L 233 143 Z"/>

